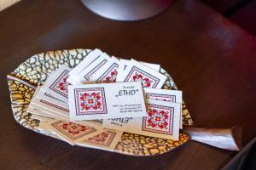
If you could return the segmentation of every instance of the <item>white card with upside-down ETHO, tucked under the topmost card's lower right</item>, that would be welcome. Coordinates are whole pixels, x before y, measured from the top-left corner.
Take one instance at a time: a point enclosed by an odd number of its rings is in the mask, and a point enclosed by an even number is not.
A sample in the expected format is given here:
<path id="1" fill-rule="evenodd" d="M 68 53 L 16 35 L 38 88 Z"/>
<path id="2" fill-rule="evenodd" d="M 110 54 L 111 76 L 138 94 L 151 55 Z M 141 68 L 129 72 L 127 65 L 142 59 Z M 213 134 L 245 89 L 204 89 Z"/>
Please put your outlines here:
<path id="1" fill-rule="evenodd" d="M 144 117 L 104 119 L 103 127 L 161 139 L 178 140 L 179 104 L 148 99 L 147 113 L 148 116 Z"/>

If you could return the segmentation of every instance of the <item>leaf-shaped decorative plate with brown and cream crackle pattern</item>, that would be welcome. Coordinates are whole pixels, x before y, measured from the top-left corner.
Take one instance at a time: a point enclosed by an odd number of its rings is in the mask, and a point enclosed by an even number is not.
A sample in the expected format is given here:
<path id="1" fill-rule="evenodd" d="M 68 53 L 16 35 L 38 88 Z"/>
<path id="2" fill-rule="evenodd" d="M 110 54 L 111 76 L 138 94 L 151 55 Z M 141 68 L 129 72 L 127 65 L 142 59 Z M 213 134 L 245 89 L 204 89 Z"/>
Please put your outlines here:
<path id="1" fill-rule="evenodd" d="M 44 84 L 49 73 L 55 71 L 59 65 L 64 64 L 73 68 L 78 65 L 89 52 L 90 49 L 73 49 L 35 54 L 22 63 L 15 69 L 15 71 L 11 72 L 8 75 L 8 83 L 11 107 L 16 122 L 20 123 L 23 127 L 38 132 L 37 127 L 40 121 L 32 119 L 31 114 L 26 112 L 26 108 L 32 99 L 36 87 Z M 170 77 L 162 68 L 160 69 L 160 72 L 168 77 L 163 88 L 177 89 L 175 83 L 172 81 L 172 77 Z M 183 125 L 192 125 L 192 119 L 184 103 Z M 49 133 L 42 134 L 60 139 L 58 136 Z M 166 153 L 167 151 L 184 144 L 188 140 L 189 136 L 185 133 L 180 133 L 178 141 L 158 139 L 134 133 L 123 133 L 119 143 L 113 151 L 131 156 L 155 156 Z"/>

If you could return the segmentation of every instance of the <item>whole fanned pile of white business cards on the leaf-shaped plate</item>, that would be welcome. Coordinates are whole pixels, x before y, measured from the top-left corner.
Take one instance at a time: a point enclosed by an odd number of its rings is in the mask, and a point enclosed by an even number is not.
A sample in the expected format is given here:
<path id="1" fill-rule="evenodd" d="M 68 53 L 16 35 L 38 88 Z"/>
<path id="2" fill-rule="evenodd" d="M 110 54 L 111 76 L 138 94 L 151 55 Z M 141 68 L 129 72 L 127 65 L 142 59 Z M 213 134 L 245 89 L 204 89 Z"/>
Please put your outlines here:
<path id="1" fill-rule="evenodd" d="M 123 132 L 178 140 L 182 92 L 161 89 L 166 78 L 160 65 L 95 49 L 50 74 L 27 112 L 40 120 L 38 131 L 68 144 L 113 150 Z"/>

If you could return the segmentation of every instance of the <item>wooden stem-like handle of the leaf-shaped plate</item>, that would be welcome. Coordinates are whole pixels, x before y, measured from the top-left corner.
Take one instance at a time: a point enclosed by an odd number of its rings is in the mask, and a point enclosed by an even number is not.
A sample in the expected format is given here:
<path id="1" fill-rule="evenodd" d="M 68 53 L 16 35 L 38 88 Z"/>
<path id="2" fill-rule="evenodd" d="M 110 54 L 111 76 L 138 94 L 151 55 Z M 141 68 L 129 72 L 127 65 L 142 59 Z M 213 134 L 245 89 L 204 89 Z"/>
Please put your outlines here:
<path id="1" fill-rule="evenodd" d="M 224 150 L 241 149 L 241 127 L 231 128 L 202 128 L 183 127 L 183 132 L 188 133 L 191 139 Z"/>

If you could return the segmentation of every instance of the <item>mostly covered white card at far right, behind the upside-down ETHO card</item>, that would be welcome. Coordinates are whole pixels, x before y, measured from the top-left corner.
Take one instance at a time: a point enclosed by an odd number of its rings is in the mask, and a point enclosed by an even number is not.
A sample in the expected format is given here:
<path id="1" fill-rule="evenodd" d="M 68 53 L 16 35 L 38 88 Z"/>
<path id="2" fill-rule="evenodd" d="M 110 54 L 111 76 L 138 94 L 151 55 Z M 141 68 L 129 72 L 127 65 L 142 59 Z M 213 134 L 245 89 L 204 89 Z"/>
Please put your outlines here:
<path id="1" fill-rule="evenodd" d="M 179 103 L 182 108 L 182 91 L 179 90 L 167 90 L 167 89 L 155 89 L 155 88 L 143 88 L 146 99 L 157 99 L 161 101 L 169 101 L 173 103 Z M 183 128 L 183 114 L 180 110 L 180 123 L 179 128 Z"/>

